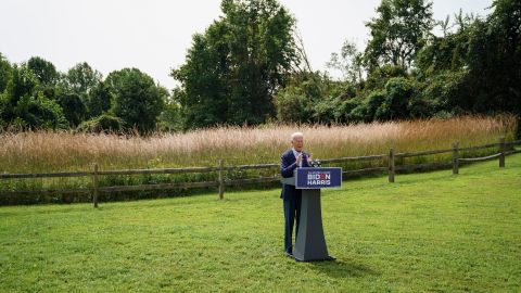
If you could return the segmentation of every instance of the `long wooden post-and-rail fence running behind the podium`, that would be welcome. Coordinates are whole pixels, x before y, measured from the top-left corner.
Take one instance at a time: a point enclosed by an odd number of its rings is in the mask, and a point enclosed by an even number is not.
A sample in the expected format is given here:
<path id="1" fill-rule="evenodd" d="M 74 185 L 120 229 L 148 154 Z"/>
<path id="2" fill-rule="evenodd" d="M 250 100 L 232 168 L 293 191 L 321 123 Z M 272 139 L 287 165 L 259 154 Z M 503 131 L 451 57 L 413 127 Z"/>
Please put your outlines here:
<path id="1" fill-rule="evenodd" d="M 355 156 L 355 157 L 339 157 L 321 160 L 323 164 L 333 163 L 350 163 L 350 162 L 367 162 L 367 161 L 387 161 L 387 166 L 369 167 L 354 170 L 343 170 L 343 175 L 357 176 L 368 173 L 387 171 L 389 182 L 394 182 L 396 171 L 407 170 L 414 171 L 418 169 L 439 169 L 453 168 L 453 174 L 459 173 L 460 163 L 482 162 L 493 158 L 499 158 L 499 167 L 505 167 L 505 156 L 516 153 L 521 153 L 521 150 L 513 149 L 514 145 L 521 144 L 521 140 L 506 142 L 504 138 L 499 139 L 497 143 L 488 143 L 484 145 L 475 145 L 468 148 L 459 148 L 458 142 L 453 143 L 452 149 L 444 150 L 429 150 L 420 152 L 395 153 L 393 149 L 389 154 Z M 483 149 L 498 148 L 499 153 L 487 155 L 484 157 L 460 157 L 461 152 L 471 152 Z M 510 150 L 507 151 L 507 148 Z M 424 156 L 442 153 L 453 153 L 450 163 L 428 163 L 416 165 L 395 165 L 396 158 Z M 48 174 L 0 174 L 1 179 L 31 179 L 31 178 L 67 178 L 67 177 L 91 177 L 92 188 L 79 189 L 61 189 L 61 190 L 38 190 L 38 191 L 0 191 L 0 196 L 21 195 L 21 194 L 52 194 L 52 193 L 92 193 L 92 203 L 98 207 L 100 192 L 115 192 L 115 191 L 141 191 L 141 190 L 167 190 L 167 189 L 190 189 L 190 188 L 218 188 L 219 199 L 224 199 L 224 191 L 226 186 L 240 186 L 247 183 L 265 183 L 276 182 L 280 180 L 280 176 L 275 177 L 259 177 L 249 179 L 225 179 L 224 173 L 230 170 L 246 170 L 246 169 L 270 169 L 279 168 L 279 164 L 255 164 L 255 165 L 238 165 L 224 166 L 223 160 L 219 160 L 218 166 L 209 167 L 189 167 L 189 168 L 157 168 L 157 169 L 127 169 L 127 170 L 99 170 L 98 164 L 93 165 L 92 171 L 66 171 L 66 173 L 48 173 Z M 190 174 L 190 173 L 218 173 L 216 181 L 201 181 L 201 182 L 180 182 L 180 183 L 158 183 L 158 184 L 138 184 L 138 186 L 112 186 L 100 187 L 100 176 L 114 175 L 152 175 L 152 174 Z"/>

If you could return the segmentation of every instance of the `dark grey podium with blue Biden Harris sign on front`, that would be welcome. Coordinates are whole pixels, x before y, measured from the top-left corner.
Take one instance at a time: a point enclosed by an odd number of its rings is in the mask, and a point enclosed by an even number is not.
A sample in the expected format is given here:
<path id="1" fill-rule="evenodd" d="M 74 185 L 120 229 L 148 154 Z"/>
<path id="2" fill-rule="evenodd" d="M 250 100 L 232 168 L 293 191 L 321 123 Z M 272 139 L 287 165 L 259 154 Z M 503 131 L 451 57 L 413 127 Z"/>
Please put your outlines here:
<path id="1" fill-rule="evenodd" d="M 342 187 L 342 168 L 297 168 L 284 184 L 302 190 L 301 218 L 293 257 L 298 262 L 334 260 L 323 237 L 320 190 Z"/>

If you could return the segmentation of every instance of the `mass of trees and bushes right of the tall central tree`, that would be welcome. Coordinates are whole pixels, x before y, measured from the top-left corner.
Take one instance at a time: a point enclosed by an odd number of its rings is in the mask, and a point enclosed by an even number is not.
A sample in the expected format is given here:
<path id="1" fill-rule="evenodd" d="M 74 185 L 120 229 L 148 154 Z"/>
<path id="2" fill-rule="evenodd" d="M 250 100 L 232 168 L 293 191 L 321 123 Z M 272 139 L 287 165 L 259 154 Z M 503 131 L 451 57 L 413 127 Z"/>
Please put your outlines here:
<path id="1" fill-rule="evenodd" d="M 455 15 L 432 33 L 432 2 L 383 0 L 364 52 L 346 41 L 330 68 L 278 91 L 284 122 L 352 123 L 462 114 L 521 114 L 521 4 L 496 0 L 485 18 Z M 297 79 L 302 79 L 298 74 Z M 309 84 L 320 89 L 308 91 Z M 340 94 L 334 95 L 334 93 Z M 325 115 L 326 113 L 326 115 Z"/>

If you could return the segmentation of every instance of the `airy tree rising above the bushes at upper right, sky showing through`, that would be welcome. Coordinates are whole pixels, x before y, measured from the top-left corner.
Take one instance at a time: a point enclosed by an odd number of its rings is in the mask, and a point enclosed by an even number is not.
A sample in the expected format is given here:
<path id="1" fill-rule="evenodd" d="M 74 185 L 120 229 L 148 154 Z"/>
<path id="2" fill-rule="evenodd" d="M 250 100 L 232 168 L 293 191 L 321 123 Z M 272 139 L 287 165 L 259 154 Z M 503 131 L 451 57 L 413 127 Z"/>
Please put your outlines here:
<path id="1" fill-rule="evenodd" d="M 370 68 L 391 64 L 410 68 L 433 26 L 432 2 L 382 0 L 377 17 L 366 24 L 371 38 L 365 51 Z"/>

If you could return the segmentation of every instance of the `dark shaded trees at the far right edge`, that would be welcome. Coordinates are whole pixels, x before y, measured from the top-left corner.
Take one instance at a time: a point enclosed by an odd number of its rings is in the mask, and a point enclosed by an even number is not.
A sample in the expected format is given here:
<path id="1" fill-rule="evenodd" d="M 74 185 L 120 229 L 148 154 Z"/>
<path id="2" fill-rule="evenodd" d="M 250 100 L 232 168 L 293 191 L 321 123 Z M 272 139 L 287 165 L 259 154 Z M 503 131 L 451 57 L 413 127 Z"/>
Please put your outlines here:
<path id="1" fill-rule="evenodd" d="M 450 114 L 521 113 L 521 3 L 496 0 L 486 18 L 455 16 L 458 28 L 417 55 L 423 95 Z"/>

